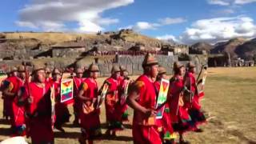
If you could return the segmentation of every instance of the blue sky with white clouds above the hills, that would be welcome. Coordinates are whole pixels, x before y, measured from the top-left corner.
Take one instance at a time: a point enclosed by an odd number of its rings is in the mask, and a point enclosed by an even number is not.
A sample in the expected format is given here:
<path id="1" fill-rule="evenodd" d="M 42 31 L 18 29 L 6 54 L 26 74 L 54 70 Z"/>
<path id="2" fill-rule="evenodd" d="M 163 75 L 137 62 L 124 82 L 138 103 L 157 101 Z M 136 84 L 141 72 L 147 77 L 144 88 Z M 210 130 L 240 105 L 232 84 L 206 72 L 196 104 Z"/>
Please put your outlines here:
<path id="1" fill-rule="evenodd" d="M 129 28 L 175 42 L 256 38 L 256 0 L 2 0 L 0 31 Z"/>

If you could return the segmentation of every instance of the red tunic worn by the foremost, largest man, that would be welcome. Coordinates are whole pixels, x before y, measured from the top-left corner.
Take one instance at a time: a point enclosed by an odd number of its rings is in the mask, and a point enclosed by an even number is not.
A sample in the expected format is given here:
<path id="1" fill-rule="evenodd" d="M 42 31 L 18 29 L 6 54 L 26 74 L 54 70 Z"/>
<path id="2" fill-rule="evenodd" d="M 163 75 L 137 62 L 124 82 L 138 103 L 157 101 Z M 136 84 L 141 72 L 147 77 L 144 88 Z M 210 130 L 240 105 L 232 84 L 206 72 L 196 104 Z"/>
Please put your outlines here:
<path id="1" fill-rule="evenodd" d="M 134 87 L 139 92 L 138 104 L 146 109 L 154 110 L 157 95 L 154 83 L 150 81 L 150 78 L 146 75 L 140 76 L 134 82 Z M 137 110 L 134 110 L 133 138 L 134 143 L 162 143 L 156 123 L 150 122 L 148 118 L 144 117 L 144 114 Z"/>

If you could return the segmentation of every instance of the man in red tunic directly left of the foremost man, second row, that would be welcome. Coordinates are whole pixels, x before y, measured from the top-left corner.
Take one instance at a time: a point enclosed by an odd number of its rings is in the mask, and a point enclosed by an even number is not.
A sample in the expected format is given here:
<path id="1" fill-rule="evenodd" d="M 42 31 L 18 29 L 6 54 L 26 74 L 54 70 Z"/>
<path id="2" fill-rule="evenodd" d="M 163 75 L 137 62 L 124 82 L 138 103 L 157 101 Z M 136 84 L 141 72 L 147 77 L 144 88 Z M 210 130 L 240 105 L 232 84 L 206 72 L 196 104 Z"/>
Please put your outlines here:
<path id="1" fill-rule="evenodd" d="M 120 77 L 120 68 L 119 66 L 114 65 L 111 70 L 111 77 L 107 78 L 104 83 L 109 83 L 109 89 L 106 93 L 105 106 L 106 106 L 106 122 L 108 123 L 108 128 L 106 134 L 115 136 L 116 130 L 122 130 L 122 120 L 120 117 L 118 106 L 118 78 Z"/>

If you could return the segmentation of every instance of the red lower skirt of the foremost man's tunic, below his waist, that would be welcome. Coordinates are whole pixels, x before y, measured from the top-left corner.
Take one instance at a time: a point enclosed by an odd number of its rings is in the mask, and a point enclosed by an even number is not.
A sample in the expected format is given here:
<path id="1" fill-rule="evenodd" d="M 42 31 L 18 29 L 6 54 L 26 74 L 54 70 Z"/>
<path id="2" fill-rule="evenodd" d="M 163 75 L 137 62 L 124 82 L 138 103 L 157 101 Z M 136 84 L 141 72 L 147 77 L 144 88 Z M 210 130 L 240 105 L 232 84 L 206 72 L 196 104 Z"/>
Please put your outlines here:
<path id="1" fill-rule="evenodd" d="M 161 144 L 157 126 L 133 125 L 134 144 Z"/>

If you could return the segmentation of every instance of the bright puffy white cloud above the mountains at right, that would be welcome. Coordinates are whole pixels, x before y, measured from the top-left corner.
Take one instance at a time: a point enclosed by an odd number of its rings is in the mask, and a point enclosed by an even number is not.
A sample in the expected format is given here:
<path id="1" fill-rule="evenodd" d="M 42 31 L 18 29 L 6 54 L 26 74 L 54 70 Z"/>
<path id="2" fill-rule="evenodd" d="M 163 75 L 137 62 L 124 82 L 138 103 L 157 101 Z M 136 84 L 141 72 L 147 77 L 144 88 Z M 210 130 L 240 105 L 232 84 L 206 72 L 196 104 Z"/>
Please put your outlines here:
<path id="1" fill-rule="evenodd" d="M 256 36 L 254 20 L 246 16 L 202 19 L 194 22 L 178 38 L 184 43 L 218 42 L 230 38 Z"/>

